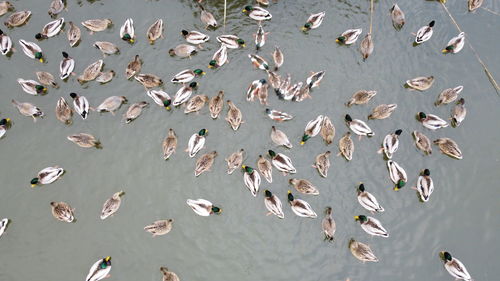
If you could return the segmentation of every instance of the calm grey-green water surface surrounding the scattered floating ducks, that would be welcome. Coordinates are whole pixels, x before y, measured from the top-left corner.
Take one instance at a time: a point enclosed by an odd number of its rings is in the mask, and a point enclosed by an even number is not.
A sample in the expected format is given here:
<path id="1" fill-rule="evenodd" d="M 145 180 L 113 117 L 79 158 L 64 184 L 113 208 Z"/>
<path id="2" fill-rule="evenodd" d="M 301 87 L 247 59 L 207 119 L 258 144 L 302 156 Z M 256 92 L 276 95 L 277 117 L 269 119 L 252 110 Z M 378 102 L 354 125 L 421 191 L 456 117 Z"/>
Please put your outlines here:
<path id="1" fill-rule="evenodd" d="M 307 200 L 319 214 L 315 220 L 295 216 L 286 203 L 288 177 L 274 171 L 274 182 L 263 182 L 284 203 L 285 219 L 265 216 L 262 192 L 253 198 L 243 184 L 241 172 L 228 176 L 223 161 L 230 153 L 244 148 L 245 163 L 254 165 L 259 154 L 273 144 L 270 127 L 276 125 L 264 114 L 258 102 L 245 100 L 251 81 L 266 78 L 252 69 L 247 54 L 253 52 L 252 34 L 257 24 L 244 16 L 241 9 L 250 1 L 228 1 L 227 26 L 207 31 L 209 43 L 192 59 L 171 58 L 168 49 L 183 43 L 181 29 L 201 30 L 199 12 L 193 1 L 124 1 L 108 0 L 89 3 L 68 1 L 66 21 L 79 23 L 90 18 L 111 18 L 114 27 L 94 35 L 82 28 L 82 42 L 69 48 L 65 34 L 40 42 L 48 63 L 28 59 L 17 43 L 21 38 L 34 41 L 34 34 L 50 18 L 49 1 L 14 1 L 17 10 L 33 12 L 27 26 L 6 30 L 17 53 L 2 57 L 0 85 L 2 99 L 0 117 L 10 117 L 14 126 L 1 140 L 0 216 L 12 220 L 0 238 L 0 280 L 83 280 L 90 266 L 99 258 L 113 257 L 109 280 L 161 280 L 160 266 L 168 266 L 182 280 L 452 280 L 442 267 L 438 253 L 448 250 L 464 262 L 475 280 L 494 280 L 500 273 L 494 257 L 500 250 L 497 188 L 500 176 L 498 143 L 500 133 L 494 120 L 498 118 L 498 95 L 484 75 L 471 50 L 466 46 L 457 55 L 442 55 L 440 50 L 458 34 L 448 16 L 434 1 L 399 1 L 407 23 L 394 30 L 389 17 L 391 1 L 375 3 L 373 39 L 375 51 L 363 62 L 357 46 L 338 46 L 334 39 L 348 28 L 369 29 L 368 1 L 279 1 L 269 7 L 273 14 L 264 30 L 268 41 L 259 52 L 271 60 L 274 45 L 285 55 L 281 74 L 291 73 L 293 80 L 304 80 L 309 71 L 326 70 L 313 99 L 301 103 L 279 101 L 270 95 L 270 107 L 295 116 L 277 124 L 293 141 L 292 150 L 276 148 L 289 155 L 297 170 L 297 178 L 312 181 L 320 196 L 297 194 Z M 206 7 L 222 24 L 223 1 L 208 1 Z M 500 57 L 497 34 L 498 17 L 479 9 L 466 12 L 466 1 L 448 1 L 450 12 L 465 30 L 469 40 L 488 64 L 498 81 Z M 498 10 L 498 2 L 486 1 L 485 7 Z M 322 26 L 308 35 L 300 32 L 312 12 L 326 10 Z M 134 19 L 137 42 L 130 46 L 119 39 L 119 27 L 126 18 Z M 150 46 L 146 29 L 156 18 L 166 24 L 164 40 Z M 6 16 L 2 17 L 5 20 Z M 412 47 L 419 27 L 436 20 L 432 39 Z M 137 120 L 124 124 L 122 108 L 116 116 L 91 112 L 83 121 L 74 116 L 72 126 L 64 126 L 54 115 L 57 99 L 75 91 L 86 96 L 92 106 L 106 97 L 124 95 L 129 104 L 141 100 L 151 102 L 143 87 L 124 79 L 124 69 L 135 54 L 140 54 L 144 73 L 154 73 L 170 80 L 186 68 L 206 65 L 217 50 L 215 37 L 235 33 L 247 41 L 246 49 L 230 50 L 230 62 L 219 70 L 208 70 L 198 79 L 198 93 L 215 95 L 224 90 L 243 112 L 245 123 L 233 132 L 224 121 L 226 109 L 218 120 L 211 120 L 205 107 L 200 114 L 185 115 L 181 110 L 167 112 L 151 104 Z M 493 36 L 492 36 L 493 35 Z M 364 34 L 362 35 L 364 36 Z M 96 82 L 80 86 L 76 78 L 60 82 L 59 89 L 49 89 L 42 97 L 24 93 L 17 84 L 19 77 L 34 79 L 37 70 L 58 74 L 60 52 L 65 50 L 76 60 L 76 73 L 102 58 L 92 47 L 94 41 L 111 41 L 121 50 L 119 55 L 104 59 L 105 69 L 114 69 L 117 77 L 106 85 Z M 360 38 L 361 40 L 361 38 Z M 359 43 L 359 42 L 358 42 Z M 436 80 L 426 92 L 403 88 L 405 80 L 434 75 Z M 431 132 L 415 120 L 418 111 L 449 116 L 451 105 L 436 108 L 433 103 L 445 88 L 463 85 L 468 114 L 459 128 Z M 374 89 L 377 96 L 368 104 L 345 107 L 344 103 L 360 89 Z M 175 94 L 170 83 L 165 90 Z M 270 92 L 271 93 L 271 92 Z M 46 113 L 34 123 L 21 116 L 10 100 L 29 101 Z M 371 109 L 381 103 L 397 103 L 390 119 L 369 121 L 376 136 L 355 139 L 356 150 L 351 162 L 332 157 L 327 179 L 311 168 L 315 155 L 326 150 L 337 153 L 338 139 L 347 131 L 343 124 L 346 113 L 365 119 Z M 227 107 L 225 107 L 227 108 Z M 335 144 L 326 147 L 319 137 L 300 147 L 298 142 L 305 124 L 318 114 L 330 116 L 337 129 Z M 169 161 L 161 155 L 161 141 L 169 128 L 179 139 L 177 153 Z M 207 128 L 209 135 L 204 150 L 217 150 L 219 156 L 212 172 L 193 176 L 195 160 L 183 150 L 191 134 Z M 400 149 L 394 160 L 406 169 L 407 187 L 394 192 L 385 161 L 375 153 L 383 137 L 402 128 Z M 431 140 L 450 137 L 460 145 L 464 159 L 453 160 L 433 147 L 432 156 L 423 156 L 414 146 L 410 132 L 423 131 Z M 87 132 L 97 136 L 102 150 L 83 149 L 66 140 L 66 136 Z M 35 189 L 29 187 L 36 173 L 51 165 L 64 167 L 67 173 L 55 183 Z M 421 169 L 432 172 L 436 189 L 428 203 L 420 203 L 413 190 Z M 264 181 L 264 180 L 263 180 Z M 353 216 L 366 214 L 356 200 L 359 182 L 381 202 L 383 214 L 374 215 L 389 230 L 390 238 L 369 237 L 354 222 Z M 99 219 L 104 201 L 114 192 L 124 190 L 118 213 L 105 221 Z M 221 216 L 199 217 L 187 207 L 187 198 L 205 198 L 224 209 Z M 50 213 L 51 201 L 64 201 L 76 208 L 77 222 L 62 223 Z M 322 211 L 333 207 L 337 223 L 333 244 L 323 241 Z M 158 219 L 175 219 L 173 230 L 152 238 L 143 227 Z M 347 248 L 351 237 L 371 245 L 379 263 L 362 264 Z"/>

